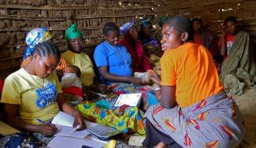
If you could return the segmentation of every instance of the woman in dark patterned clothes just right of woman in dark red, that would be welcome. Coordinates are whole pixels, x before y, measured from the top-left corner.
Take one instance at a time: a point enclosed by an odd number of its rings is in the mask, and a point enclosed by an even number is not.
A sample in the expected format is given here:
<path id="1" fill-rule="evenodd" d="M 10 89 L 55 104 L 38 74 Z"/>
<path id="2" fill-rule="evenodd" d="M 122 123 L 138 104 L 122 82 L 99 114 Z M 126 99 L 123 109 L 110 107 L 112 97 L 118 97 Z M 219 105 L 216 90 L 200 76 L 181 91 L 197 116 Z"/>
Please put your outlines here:
<path id="1" fill-rule="evenodd" d="M 161 50 L 160 43 L 158 39 L 152 37 L 152 24 L 150 19 L 145 19 L 140 24 L 139 30 L 139 41 L 143 43 L 144 51 L 147 57 L 150 57 L 151 54 L 154 54 L 158 57 L 161 57 L 163 54 Z"/>

